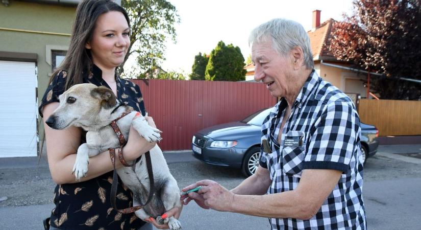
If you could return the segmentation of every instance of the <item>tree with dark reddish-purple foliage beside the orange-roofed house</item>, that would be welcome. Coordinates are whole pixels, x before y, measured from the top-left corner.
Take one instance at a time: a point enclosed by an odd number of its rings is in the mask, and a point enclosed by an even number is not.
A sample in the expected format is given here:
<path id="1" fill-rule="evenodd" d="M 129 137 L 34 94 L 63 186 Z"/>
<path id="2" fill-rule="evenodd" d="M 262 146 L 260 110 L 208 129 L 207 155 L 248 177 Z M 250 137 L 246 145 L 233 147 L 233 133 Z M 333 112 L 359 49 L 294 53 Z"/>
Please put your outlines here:
<path id="1" fill-rule="evenodd" d="M 330 51 L 339 60 L 383 76 L 370 79 L 382 99 L 419 100 L 421 1 L 354 0 L 354 11 L 332 28 Z"/>

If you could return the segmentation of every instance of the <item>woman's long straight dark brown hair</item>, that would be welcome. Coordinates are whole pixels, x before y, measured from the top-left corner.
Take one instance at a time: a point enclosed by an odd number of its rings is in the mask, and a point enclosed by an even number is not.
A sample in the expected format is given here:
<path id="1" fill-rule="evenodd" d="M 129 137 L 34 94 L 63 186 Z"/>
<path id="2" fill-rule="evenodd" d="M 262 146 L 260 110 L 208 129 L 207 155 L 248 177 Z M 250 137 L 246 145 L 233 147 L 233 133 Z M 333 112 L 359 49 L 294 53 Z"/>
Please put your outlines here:
<path id="1" fill-rule="evenodd" d="M 82 71 L 90 70 L 92 67 L 91 53 L 90 50 L 85 48 L 85 45 L 92 40 L 93 30 L 98 17 L 110 11 L 121 12 L 126 17 L 130 28 L 129 16 L 125 9 L 111 0 L 85 0 L 78 5 L 66 57 L 53 73 L 49 82 L 53 80 L 57 73 L 64 70 L 67 72 L 65 89 L 72 85 L 83 83 Z"/>

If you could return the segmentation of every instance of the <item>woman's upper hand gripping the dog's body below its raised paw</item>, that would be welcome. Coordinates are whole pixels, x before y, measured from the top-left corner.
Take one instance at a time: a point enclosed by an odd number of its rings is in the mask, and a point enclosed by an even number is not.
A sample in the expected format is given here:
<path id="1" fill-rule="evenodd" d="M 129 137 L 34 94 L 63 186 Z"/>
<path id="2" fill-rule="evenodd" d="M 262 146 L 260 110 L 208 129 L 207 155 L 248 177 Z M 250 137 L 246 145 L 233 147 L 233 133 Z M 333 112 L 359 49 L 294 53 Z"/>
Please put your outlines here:
<path id="1" fill-rule="evenodd" d="M 134 117 L 133 119 L 136 119 Z M 154 119 L 151 117 L 145 117 L 147 123 L 156 128 Z M 139 135 L 136 129 L 133 126 L 130 126 L 129 137 L 127 144 L 123 147 L 123 156 L 126 160 L 135 160 L 137 157 L 143 155 L 145 152 L 151 150 L 156 145 L 156 142 L 147 142 L 143 137 Z"/>

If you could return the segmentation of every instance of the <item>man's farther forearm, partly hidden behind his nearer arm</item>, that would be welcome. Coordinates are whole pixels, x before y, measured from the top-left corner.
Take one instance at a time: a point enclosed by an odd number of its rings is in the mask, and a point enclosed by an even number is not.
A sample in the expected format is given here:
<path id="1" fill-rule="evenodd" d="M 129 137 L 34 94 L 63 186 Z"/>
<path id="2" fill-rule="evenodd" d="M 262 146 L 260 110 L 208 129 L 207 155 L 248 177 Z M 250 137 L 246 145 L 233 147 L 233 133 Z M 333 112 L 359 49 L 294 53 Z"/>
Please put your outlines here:
<path id="1" fill-rule="evenodd" d="M 231 192 L 238 195 L 263 195 L 266 194 L 271 182 L 269 171 L 259 166 L 255 174 L 243 180 Z"/>

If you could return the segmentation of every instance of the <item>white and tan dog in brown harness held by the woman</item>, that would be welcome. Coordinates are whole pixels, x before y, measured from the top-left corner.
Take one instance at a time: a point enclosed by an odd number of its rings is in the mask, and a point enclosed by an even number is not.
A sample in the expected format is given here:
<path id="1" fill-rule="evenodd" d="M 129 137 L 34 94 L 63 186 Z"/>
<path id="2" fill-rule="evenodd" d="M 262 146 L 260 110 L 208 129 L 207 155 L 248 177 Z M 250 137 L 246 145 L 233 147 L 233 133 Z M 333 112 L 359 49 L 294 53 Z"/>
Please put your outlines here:
<path id="1" fill-rule="evenodd" d="M 130 107 L 122 105 L 111 89 L 88 83 L 73 85 L 59 96 L 59 101 L 59 107 L 48 117 L 45 123 L 53 129 L 76 126 L 87 131 L 86 143 L 79 146 L 76 163 L 73 167 L 76 179 L 80 180 L 88 171 L 89 157 L 109 148 L 120 146 L 118 137 L 110 123 L 119 118 L 122 113 L 128 111 Z M 126 140 L 131 125 L 148 142 L 161 140 L 161 131 L 148 125 L 145 118 L 139 116 L 136 111 L 132 111 L 119 119 L 117 125 Z M 153 196 L 150 203 L 137 210 L 135 214 L 142 220 L 147 217 L 154 217 L 160 224 L 168 223 L 172 230 L 181 229 L 180 221 L 175 217 L 161 219 L 161 215 L 167 210 L 181 205 L 180 188 L 176 179 L 169 172 L 158 145 L 155 145 L 150 153 L 156 195 Z M 117 174 L 133 192 L 133 205 L 139 205 L 139 202 L 144 203 L 150 192 L 145 157 L 141 157 L 141 160 L 134 167 L 117 169 Z"/>

